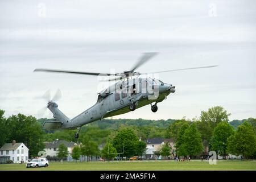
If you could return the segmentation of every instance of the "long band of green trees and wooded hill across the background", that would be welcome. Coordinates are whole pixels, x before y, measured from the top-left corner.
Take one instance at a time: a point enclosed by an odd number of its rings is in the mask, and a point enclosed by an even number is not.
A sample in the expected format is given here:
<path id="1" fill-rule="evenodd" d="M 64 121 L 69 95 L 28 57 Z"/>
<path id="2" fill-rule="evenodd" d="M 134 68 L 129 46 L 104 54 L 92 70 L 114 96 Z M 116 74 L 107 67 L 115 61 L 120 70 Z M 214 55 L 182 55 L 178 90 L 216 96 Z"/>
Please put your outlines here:
<path id="1" fill-rule="evenodd" d="M 74 138 L 76 130 L 42 130 L 42 122 L 46 119 L 37 120 L 23 114 L 5 118 L 3 114 L 0 110 L 0 146 L 15 139 L 30 148 L 30 157 L 43 150 L 43 142 L 55 139 L 81 143 L 73 149 L 74 159 L 78 154 L 88 156 L 88 159 L 102 156 L 109 160 L 118 154 L 121 157 L 141 156 L 146 150 L 144 141 L 153 137 L 174 140 L 176 150 L 167 142 L 158 151 L 162 156 L 198 156 L 207 149 L 224 157 L 234 154 L 251 158 L 256 153 L 256 119 L 234 121 L 236 125 L 233 127 L 233 123 L 228 122 L 230 114 L 221 106 L 201 111 L 200 117 L 193 119 L 105 119 L 82 127 L 79 140 Z M 100 144 L 105 144 L 101 150 Z"/>

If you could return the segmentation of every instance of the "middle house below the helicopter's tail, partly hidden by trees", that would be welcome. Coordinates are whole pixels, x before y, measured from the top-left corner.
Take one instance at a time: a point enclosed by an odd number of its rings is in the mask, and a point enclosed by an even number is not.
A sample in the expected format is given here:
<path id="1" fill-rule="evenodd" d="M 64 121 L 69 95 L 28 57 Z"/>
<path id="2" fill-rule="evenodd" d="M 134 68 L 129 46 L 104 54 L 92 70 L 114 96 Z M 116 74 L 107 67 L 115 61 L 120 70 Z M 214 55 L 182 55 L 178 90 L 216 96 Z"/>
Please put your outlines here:
<path id="1" fill-rule="evenodd" d="M 57 151 L 60 146 L 60 144 L 64 144 L 68 148 L 68 158 L 67 160 L 72 160 L 71 154 L 73 151 L 73 148 L 77 145 L 75 142 L 67 142 L 66 140 L 53 140 L 52 142 L 44 142 L 46 148 L 44 148 L 44 151 L 46 151 L 46 156 L 54 157 L 57 156 Z"/>

